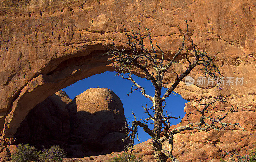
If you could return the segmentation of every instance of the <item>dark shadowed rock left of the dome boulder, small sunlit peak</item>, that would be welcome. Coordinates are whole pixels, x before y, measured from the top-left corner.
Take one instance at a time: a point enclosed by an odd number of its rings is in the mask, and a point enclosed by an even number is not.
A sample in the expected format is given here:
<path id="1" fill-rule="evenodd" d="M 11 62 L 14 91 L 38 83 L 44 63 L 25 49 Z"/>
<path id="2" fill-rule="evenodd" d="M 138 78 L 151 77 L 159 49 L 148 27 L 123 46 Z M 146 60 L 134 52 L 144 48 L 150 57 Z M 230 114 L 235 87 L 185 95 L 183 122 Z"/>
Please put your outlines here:
<path id="1" fill-rule="evenodd" d="M 29 143 L 38 150 L 43 146 L 59 145 L 67 150 L 71 132 L 65 107 L 71 101 L 64 91 L 59 91 L 36 105 L 20 124 L 14 135 L 15 143 Z"/>

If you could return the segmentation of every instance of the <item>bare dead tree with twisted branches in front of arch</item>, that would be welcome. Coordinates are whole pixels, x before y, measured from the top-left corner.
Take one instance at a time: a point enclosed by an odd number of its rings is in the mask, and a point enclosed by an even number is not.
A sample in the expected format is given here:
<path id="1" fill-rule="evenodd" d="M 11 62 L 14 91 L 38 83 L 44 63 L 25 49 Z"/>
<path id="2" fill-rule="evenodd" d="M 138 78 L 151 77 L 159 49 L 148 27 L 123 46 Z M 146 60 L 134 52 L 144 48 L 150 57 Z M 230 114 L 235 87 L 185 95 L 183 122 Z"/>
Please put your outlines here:
<path id="1" fill-rule="evenodd" d="M 187 21 L 186 21 L 187 24 Z M 169 95 L 173 92 L 173 90 L 177 87 L 177 85 L 186 77 L 192 69 L 196 66 L 203 67 L 204 74 L 207 77 L 212 77 L 217 81 L 217 74 L 220 74 L 218 67 L 214 64 L 214 59 L 211 58 L 206 52 L 196 50 L 196 46 L 192 41 L 192 52 L 194 54 L 194 58 L 190 59 L 187 57 L 188 49 L 186 49 L 186 54 L 183 54 L 183 57 L 187 60 L 186 70 L 183 72 L 176 72 L 173 67 L 179 63 L 177 57 L 180 55 L 182 57 L 181 52 L 185 46 L 185 38 L 188 34 L 188 24 L 187 31 L 183 35 L 181 47 L 178 52 L 172 57 L 172 59 L 167 60 L 165 58 L 166 54 L 164 51 L 158 46 L 155 39 L 155 46 L 153 45 L 153 41 L 151 38 L 151 30 L 145 28 L 146 33 L 143 34 L 140 23 L 137 32 L 127 32 L 124 27 L 124 34 L 127 36 L 128 45 L 130 46 L 130 50 L 118 49 L 113 43 L 112 46 L 105 46 L 107 49 L 106 54 L 112 55 L 114 62 L 114 67 L 117 69 L 117 75 L 121 76 L 123 79 L 131 80 L 133 82 L 133 86 L 131 87 L 131 92 L 134 90 L 139 90 L 142 95 L 148 98 L 153 106 L 148 108 L 143 107 L 148 114 L 148 118 L 142 120 L 143 122 L 137 121 L 135 115 L 132 121 L 132 125 L 126 125 L 124 128 L 127 131 L 128 137 L 126 139 L 130 140 L 130 143 L 126 146 L 125 150 L 128 151 L 129 148 L 133 149 L 134 140 L 137 133 L 138 126 L 142 127 L 146 133 L 148 133 L 152 138 L 152 145 L 154 146 L 155 158 L 157 162 L 165 162 L 168 158 L 170 158 L 173 162 L 178 162 L 178 160 L 172 155 L 173 150 L 173 136 L 174 134 L 180 133 L 185 130 L 208 130 L 210 128 L 215 130 L 220 130 L 222 128 L 229 128 L 230 125 L 237 125 L 236 123 L 223 123 L 222 120 L 227 116 L 228 111 L 223 116 L 218 116 L 217 118 L 213 118 L 212 116 L 206 116 L 205 112 L 208 112 L 208 109 L 215 102 L 223 102 L 224 99 L 220 95 L 216 99 L 214 99 L 210 103 L 205 103 L 204 109 L 200 111 L 202 114 L 199 122 L 189 123 L 185 126 L 180 126 L 173 130 L 170 129 L 170 118 L 178 119 L 176 117 L 170 116 L 166 112 L 164 115 L 164 107 L 166 105 L 165 98 L 169 97 Z M 145 40 L 150 42 L 150 48 L 146 48 L 144 42 Z M 185 47 L 186 48 L 186 47 Z M 133 78 L 132 78 L 132 70 L 139 69 L 145 74 L 145 78 L 147 81 L 151 81 L 155 88 L 155 95 L 150 96 L 146 94 L 145 89 L 140 86 Z M 153 72 L 150 72 L 153 71 Z M 167 72 L 172 71 L 176 74 L 176 80 L 172 84 L 171 88 L 169 88 L 166 93 L 161 96 L 162 85 L 165 84 L 163 82 L 164 76 Z M 127 75 L 126 75 L 127 74 Z M 218 84 L 217 84 L 218 85 Z M 130 94 L 129 93 L 129 94 Z M 201 101 L 201 100 L 200 100 Z M 163 105 L 163 103 L 165 103 Z M 200 102 L 199 102 L 200 104 Z M 152 120 L 153 123 L 148 122 L 148 120 Z M 216 123 L 219 124 L 219 127 L 216 126 Z M 148 128 L 148 124 L 153 124 L 153 130 Z M 164 137 L 160 138 L 161 131 L 164 131 Z M 162 144 L 165 140 L 169 140 L 169 150 L 165 150 L 162 148 Z M 132 152 L 132 151 L 131 151 Z"/>

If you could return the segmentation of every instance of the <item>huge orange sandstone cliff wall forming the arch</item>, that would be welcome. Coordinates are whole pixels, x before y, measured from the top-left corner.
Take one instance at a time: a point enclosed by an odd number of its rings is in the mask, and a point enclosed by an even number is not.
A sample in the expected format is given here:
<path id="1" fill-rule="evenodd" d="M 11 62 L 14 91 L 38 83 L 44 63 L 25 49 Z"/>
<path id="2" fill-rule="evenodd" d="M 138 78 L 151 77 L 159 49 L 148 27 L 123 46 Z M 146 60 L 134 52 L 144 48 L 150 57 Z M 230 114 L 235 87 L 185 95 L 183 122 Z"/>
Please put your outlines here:
<path id="1" fill-rule="evenodd" d="M 193 39 L 196 48 L 216 55 L 221 74 L 244 77 L 242 86 L 225 85 L 222 94 L 228 98 L 224 106 L 219 106 L 219 113 L 228 111 L 233 105 L 235 112 L 227 116 L 227 120 L 236 121 L 246 131 L 255 131 L 255 2 L 1 0 L 0 6 L 2 138 L 13 137 L 28 112 L 48 96 L 78 80 L 106 70 L 113 71 L 109 58 L 102 55 L 104 48 L 100 42 L 109 45 L 114 41 L 120 49 L 127 49 L 122 24 L 127 30 L 135 31 L 138 20 L 142 27 L 152 30 L 152 37 L 167 53 L 165 59 L 179 49 L 185 32 L 184 20 L 188 20 L 188 49 Z M 190 51 L 188 56 L 193 57 Z M 184 58 L 178 59 L 185 62 Z M 184 70 L 179 65 L 176 68 Z M 140 71 L 135 72 L 142 76 Z M 167 74 L 164 82 L 172 83 L 175 75 Z M 190 76 L 197 78 L 201 72 L 195 69 Z M 187 115 L 198 106 L 193 102 L 194 97 L 208 99 L 218 95 L 215 88 L 184 83 L 175 91 L 192 101 L 185 107 Z M 191 121 L 196 120 L 196 112 L 190 117 Z M 251 135 L 247 137 L 252 138 Z M 215 147 L 219 142 L 218 139 L 212 145 Z M 241 146 L 252 146 L 252 143 L 242 142 Z"/>

